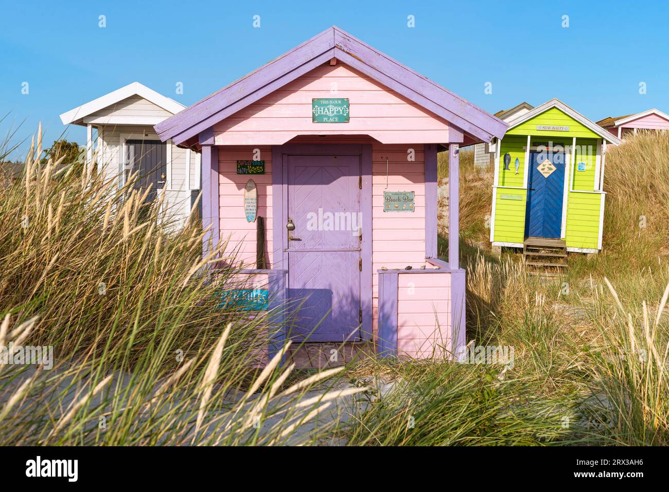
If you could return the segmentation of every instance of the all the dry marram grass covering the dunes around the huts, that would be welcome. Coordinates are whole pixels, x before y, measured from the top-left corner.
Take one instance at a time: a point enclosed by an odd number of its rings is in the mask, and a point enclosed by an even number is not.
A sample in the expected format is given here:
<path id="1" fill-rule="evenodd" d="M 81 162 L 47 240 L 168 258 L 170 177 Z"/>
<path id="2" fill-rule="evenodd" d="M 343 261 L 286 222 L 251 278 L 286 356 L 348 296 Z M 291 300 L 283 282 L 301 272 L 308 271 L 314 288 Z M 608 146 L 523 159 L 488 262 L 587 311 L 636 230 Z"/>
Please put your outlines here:
<path id="1" fill-rule="evenodd" d="M 219 308 L 215 289 L 240 265 L 223 247 L 201 258 L 197 221 L 175 232 L 131 185 L 117 192 L 78 162 L 37 164 L 38 139 L 25 176 L 0 189 L 0 345 L 50 345 L 55 361 L 0 366 L 0 442 L 667 445 L 666 203 L 661 182 L 638 176 L 663 178 L 666 152 L 648 148 L 662 139 L 632 139 L 642 157 L 607 157 L 606 234 L 617 221 L 627 245 L 570 259 L 558 279 L 462 248 L 468 341 L 513 347 L 512 366 L 367 360 L 307 378 L 282 353 L 257 363 L 272 314 Z M 611 170 L 626 158 L 638 159 L 634 176 Z M 480 179 L 468 178 L 476 196 Z M 652 209 L 645 232 L 635 197 Z M 481 202 L 465 207 L 470 240 L 484 229 Z M 213 266 L 209 283 L 201 272 Z M 345 422 L 322 418 L 330 411 Z"/>

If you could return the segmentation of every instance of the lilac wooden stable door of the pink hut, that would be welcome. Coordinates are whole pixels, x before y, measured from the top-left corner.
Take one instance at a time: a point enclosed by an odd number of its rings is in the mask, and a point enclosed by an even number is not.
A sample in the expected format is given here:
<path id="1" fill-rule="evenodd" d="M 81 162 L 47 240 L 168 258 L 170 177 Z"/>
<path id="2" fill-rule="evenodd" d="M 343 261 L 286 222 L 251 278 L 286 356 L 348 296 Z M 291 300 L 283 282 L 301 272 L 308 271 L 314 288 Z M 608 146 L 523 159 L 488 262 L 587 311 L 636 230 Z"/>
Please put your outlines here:
<path id="1" fill-rule="evenodd" d="M 360 157 L 288 156 L 289 336 L 310 342 L 360 335 Z"/>

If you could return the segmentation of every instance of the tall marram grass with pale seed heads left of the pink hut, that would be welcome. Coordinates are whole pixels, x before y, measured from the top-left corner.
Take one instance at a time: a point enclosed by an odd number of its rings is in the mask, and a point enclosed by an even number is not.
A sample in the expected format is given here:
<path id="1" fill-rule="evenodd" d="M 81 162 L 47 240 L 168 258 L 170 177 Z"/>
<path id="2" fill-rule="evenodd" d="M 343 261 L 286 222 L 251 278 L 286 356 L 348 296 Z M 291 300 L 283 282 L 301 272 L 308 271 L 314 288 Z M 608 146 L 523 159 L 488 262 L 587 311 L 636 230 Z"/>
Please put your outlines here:
<path id="1" fill-rule="evenodd" d="M 272 313 L 221 310 L 216 291 L 240 266 L 227 243 L 203 259 L 193 213 L 174 231 L 136 176 L 117 191 L 82 162 L 40 156 L 41 132 L 23 176 L 0 188 L 0 345 L 52 346 L 54 361 L 0 365 L 0 442 L 318 439 L 296 430 L 333 404 L 336 393 L 313 389 L 339 370 L 300 381 L 280 365 L 287 346 L 259 365 Z"/>

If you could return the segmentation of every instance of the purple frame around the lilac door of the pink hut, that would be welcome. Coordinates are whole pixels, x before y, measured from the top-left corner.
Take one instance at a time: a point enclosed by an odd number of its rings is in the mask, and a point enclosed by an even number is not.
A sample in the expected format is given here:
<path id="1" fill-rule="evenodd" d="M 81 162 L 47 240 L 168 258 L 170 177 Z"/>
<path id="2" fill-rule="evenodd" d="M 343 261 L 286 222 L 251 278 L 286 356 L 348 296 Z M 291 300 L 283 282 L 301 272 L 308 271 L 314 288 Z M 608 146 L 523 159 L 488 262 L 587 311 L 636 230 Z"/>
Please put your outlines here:
<path id="1" fill-rule="evenodd" d="M 363 221 L 363 238 L 360 257 L 360 304 L 363 322 L 357 340 L 372 338 L 372 146 L 371 144 L 285 144 L 272 146 L 272 237 L 273 269 L 288 269 L 288 166 L 289 155 L 355 155 L 360 156 L 363 187 L 360 212 Z M 289 273 L 290 275 L 290 273 Z M 286 285 L 288 283 L 286 282 Z"/>

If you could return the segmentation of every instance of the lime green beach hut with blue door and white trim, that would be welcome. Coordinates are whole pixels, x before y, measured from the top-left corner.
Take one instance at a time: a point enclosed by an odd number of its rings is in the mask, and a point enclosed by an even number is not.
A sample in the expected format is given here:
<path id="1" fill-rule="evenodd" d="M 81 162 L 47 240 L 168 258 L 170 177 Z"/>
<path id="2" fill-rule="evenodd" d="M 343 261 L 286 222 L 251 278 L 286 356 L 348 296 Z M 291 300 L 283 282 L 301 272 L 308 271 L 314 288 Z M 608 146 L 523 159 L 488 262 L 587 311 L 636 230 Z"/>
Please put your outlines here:
<path id="1" fill-rule="evenodd" d="M 620 140 L 557 99 L 508 124 L 495 144 L 493 250 L 523 248 L 533 265 L 567 251 L 597 253 L 606 148 Z"/>

